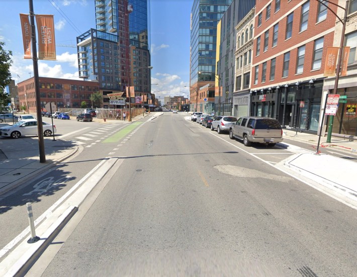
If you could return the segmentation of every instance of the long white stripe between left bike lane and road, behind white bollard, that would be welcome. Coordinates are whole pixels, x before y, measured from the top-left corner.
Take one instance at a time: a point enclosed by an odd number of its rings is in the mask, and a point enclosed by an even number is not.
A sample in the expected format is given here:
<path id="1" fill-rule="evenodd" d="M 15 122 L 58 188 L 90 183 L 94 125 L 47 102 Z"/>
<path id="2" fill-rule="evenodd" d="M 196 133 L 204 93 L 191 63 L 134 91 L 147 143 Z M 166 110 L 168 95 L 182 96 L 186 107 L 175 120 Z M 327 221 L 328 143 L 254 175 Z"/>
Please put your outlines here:
<path id="1" fill-rule="evenodd" d="M 52 212 L 69 196 L 75 191 L 90 175 L 92 175 L 103 163 L 105 163 L 107 159 L 102 160 L 99 164 L 97 164 L 90 172 L 88 172 L 83 178 L 81 178 L 68 192 L 66 192 L 60 199 L 56 201 L 50 208 L 47 209 L 42 215 L 40 215 L 35 221 L 35 226 L 38 225 L 42 220 L 44 220 L 49 214 Z M 30 227 L 27 227 L 23 230 L 17 237 L 15 237 L 12 241 L 10 241 L 7 245 L 4 246 L 3 249 L 0 250 L 0 258 L 4 256 L 9 250 L 11 250 L 20 240 L 22 240 L 27 234 L 30 232 Z"/>

